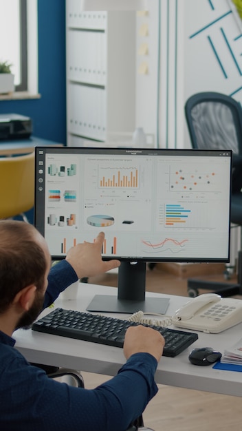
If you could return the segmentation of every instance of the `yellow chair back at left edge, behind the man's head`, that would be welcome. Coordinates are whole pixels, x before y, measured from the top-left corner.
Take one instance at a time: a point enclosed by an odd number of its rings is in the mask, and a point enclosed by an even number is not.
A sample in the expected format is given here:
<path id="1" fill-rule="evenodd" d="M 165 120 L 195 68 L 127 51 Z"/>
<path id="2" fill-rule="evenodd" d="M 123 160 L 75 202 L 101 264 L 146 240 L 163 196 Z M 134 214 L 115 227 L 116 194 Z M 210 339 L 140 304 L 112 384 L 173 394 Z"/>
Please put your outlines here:
<path id="1" fill-rule="evenodd" d="M 0 158 L 0 219 L 21 215 L 34 207 L 34 152 Z"/>

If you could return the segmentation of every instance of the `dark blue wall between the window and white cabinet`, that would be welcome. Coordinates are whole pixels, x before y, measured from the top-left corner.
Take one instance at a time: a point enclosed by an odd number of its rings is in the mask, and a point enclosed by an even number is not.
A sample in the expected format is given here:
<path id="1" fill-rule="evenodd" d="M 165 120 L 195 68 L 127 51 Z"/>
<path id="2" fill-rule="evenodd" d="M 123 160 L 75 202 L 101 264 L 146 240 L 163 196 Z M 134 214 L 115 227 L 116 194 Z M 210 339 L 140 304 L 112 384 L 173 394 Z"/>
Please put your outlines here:
<path id="1" fill-rule="evenodd" d="M 30 116 L 33 135 L 66 144 L 65 0 L 38 1 L 40 99 L 0 101 L 0 114 Z"/>

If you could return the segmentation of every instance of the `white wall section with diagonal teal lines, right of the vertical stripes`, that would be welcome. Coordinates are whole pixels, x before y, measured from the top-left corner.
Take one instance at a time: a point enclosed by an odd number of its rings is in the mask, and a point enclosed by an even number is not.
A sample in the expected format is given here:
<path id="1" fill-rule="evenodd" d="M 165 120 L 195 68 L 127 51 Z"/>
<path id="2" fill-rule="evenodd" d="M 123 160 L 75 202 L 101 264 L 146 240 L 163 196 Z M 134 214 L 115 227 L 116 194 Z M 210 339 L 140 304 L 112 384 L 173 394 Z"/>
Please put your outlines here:
<path id="1" fill-rule="evenodd" d="M 242 21 L 228 0 L 186 0 L 181 101 L 197 92 L 220 92 L 242 104 Z M 196 20 L 192 19 L 196 17 Z M 190 142 L 184 128 L 184 146 Z"/>

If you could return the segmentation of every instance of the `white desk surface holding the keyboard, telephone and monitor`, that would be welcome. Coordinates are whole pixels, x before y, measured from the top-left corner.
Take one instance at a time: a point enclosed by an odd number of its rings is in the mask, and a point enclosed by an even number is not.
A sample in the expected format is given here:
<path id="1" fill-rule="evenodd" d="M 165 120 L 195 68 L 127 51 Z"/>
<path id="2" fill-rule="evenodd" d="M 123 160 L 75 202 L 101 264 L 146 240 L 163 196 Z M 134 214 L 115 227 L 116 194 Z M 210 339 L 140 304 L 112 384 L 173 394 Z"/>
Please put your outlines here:
<path id="1" fill-rule="evenodd" d="M 94 284 L 80 284 L 77 300 L 56 300 L 55 306 L 85 311 L 94 295 L 117 295 L 117 289 Z M 170 297 L 167 315 L 187 302 L 187 297 L 146 293 L 147 296 Z M 50 313 L 50 308 L 43 313 Z M 118 317 L 124 315 L 118 315 Z M 226 395 L 242 396 L 242 372 L 214 370 L 212 366 L 194 366 L 188 361 L 190 350 L 195 347 L 209 346 L 223 350 L 242 337 L 242 324 L 234 326 L 220 334 L 198 333 L 199 339 L 175 358 L 162 357 L 158 364 L 155 380 L 169 386 L 205 390 Z M 17 330 L 13 337 L 17 340 L 16 347 L 30 362 L 62 366 L 104 375 L 115 375 L 124 364 L 125 359 L 121 348 L 104 346 L 37 333 L 32 330 Z"/>

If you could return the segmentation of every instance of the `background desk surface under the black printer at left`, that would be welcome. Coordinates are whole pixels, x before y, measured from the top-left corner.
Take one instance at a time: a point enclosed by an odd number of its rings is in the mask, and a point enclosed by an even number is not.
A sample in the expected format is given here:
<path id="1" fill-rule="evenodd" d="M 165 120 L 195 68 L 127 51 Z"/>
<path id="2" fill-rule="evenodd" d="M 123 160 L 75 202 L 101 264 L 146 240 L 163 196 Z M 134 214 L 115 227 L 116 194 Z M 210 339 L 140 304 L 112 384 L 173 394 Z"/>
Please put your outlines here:
<path id="1" fill-rule="evenodd" d="M 63 144 L 52 140 L 36 138 L 31 136 L 28 139 L 19 140 L 0 140 L 0 156 L 11 156 L 12 154 L 27 154 L 34 151 L 34 147 L 63 147 Z"/>

